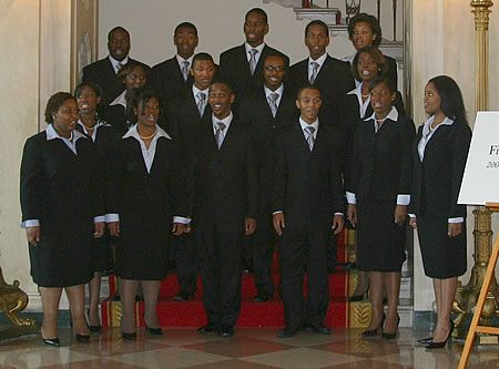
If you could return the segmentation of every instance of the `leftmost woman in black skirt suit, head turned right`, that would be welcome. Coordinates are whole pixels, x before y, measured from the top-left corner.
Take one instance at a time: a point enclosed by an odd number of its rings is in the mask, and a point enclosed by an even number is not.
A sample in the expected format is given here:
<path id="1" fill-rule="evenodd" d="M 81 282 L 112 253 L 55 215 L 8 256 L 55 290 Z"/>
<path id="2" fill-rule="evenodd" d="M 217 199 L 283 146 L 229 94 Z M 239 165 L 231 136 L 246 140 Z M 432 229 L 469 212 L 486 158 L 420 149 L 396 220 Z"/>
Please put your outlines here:
<path id="1" fill-rule="evenodd" d="M 77 100 L 58 92 L 44 115 L 47 130 L 24 144 L 20 185 L 31 276 L 43 307 L 41 336 L 47 345 L 60 345 L 57 321 L 64 289 L 77 340 L 88 342 L 84 284 L 93 276 L 92 239 L 104 233 L 101 186 L 92 143 L 74 130 Z"/>

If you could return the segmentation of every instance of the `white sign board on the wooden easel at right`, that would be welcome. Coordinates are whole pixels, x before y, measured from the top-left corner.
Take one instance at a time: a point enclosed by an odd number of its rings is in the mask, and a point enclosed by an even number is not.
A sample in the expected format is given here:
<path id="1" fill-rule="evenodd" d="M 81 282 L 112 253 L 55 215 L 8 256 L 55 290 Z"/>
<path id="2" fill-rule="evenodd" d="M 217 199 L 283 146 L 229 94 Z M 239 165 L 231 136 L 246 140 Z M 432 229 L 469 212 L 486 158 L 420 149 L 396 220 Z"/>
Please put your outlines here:
<path id="1" fill-rule="evenodd" d="M 499 112 L 478 112 L 458 204 L 499 203 Z"/>

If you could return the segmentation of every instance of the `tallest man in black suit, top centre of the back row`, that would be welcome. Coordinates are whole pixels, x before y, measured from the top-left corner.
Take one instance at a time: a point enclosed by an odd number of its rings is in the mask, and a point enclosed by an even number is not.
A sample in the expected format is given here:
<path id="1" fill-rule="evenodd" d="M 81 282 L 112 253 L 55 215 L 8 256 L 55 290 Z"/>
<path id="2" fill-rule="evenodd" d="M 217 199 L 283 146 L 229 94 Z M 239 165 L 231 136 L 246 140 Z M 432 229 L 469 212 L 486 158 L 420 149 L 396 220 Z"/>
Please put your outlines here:
<path id="1" fill-rule="evenodd" d="M 246 42 L 220 55 L 222 76 L 231 83 L 237 101 L 259 89 L 263 83 L 263 62 L 268 54 L 279 54 L 286 66 L 289 65 L 289 58 L 265 44 L 264 38 L 267 33 L 267 13 L 261 8 L 253 8 L 244 20 Z"/>

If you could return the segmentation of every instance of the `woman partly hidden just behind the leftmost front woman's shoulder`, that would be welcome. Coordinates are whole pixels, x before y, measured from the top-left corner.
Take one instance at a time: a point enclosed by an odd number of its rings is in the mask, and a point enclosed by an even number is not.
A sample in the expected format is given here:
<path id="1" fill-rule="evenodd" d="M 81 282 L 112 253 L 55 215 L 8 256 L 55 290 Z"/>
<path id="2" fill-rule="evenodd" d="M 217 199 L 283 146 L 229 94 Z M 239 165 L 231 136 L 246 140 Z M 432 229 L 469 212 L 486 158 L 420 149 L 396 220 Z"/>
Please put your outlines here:
<path id="1" fill-rule="evenodd" d="M 111 125 L 98 115 L 98 105 L 101 101 L 101 89 L 93 82 L 82 82 L 74 89 L 80 115 L 77 130 L 92 140 L 93 148 L 96 153 L 95 168 L 99 171 L 99 176 L 105 178 L 105 163 L 109 157 L 113 130 Z M 95 238 L 93 242 L 92 266 L 94 273 L 89 284 L 89 328 L 91 331 L 100 331 L 99 303 L 101 295 L 101 275 L 102 271 L 109 270 L 113 266 L 108 233 L 100 238 Z"/>

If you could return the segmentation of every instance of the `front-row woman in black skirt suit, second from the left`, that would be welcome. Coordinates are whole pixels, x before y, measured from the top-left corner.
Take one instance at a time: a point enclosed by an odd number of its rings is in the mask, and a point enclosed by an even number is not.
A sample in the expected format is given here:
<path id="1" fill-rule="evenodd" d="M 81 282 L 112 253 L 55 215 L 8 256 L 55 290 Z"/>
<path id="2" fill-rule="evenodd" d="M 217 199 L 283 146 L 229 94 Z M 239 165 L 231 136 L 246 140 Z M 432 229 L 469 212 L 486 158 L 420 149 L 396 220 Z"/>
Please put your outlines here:
<path id="1" fill-rule="evenodd" d="M 106 222 L 116 237 L 116 265 L 122 305 L 122 336 L 135 339 L 135 291 L 141 284 L 147 331 L 162 335 L 156 315 L 160 283 L 166 275 L 170 236 L 181 235 L 186 218 L 182 156 L 159 125 L 161 100 L 138 90 L 131 101 L 130 130 L 111 151 Z M 181 214 L 182 216 L 174 216 Z"/>

